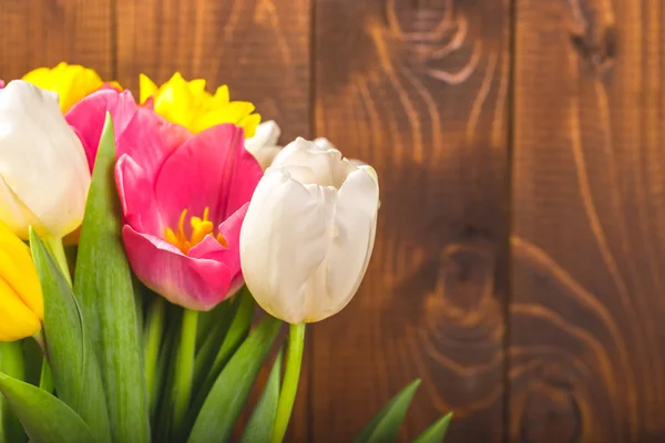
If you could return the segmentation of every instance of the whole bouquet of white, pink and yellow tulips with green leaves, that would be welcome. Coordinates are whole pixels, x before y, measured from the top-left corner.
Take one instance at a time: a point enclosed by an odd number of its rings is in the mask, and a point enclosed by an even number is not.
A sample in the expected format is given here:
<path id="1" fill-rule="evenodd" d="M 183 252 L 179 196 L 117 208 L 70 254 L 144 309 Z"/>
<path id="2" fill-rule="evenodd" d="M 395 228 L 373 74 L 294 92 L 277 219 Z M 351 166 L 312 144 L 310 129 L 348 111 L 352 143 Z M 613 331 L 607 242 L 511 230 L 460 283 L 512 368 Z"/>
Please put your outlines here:
<path id="1" fill-rule="evenodd" d="M 0 442 L 283 441 L 305 324 L 367 269 L 375 171 L 325 138 L 280 148 L 177 73 L 137 102 L 65 63 L 0 83 Z M 417 385 L 356 442 L 393 440 Z"/>

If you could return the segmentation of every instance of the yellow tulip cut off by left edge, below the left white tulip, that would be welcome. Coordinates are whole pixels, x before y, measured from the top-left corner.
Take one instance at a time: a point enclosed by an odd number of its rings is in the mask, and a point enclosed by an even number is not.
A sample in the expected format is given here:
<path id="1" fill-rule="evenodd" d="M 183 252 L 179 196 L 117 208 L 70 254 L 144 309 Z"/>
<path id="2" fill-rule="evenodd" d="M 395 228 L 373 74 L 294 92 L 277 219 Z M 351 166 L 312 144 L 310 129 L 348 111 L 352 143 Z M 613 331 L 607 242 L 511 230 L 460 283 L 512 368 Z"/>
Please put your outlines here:
<path id="1" fill-rule="evenodd" d="M 0 223 L 0 341 L 41 330 L 44 307 L 30 248 Z"/>

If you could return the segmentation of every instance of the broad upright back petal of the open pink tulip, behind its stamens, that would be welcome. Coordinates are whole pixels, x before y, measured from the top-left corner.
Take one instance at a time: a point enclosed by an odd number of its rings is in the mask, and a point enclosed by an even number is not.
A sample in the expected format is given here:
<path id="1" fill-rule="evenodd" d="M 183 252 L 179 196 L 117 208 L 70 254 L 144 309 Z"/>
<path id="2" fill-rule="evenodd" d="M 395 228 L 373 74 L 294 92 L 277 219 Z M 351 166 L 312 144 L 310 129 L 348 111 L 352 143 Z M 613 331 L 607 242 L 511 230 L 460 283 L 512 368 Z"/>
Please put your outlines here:
<path id="1" fill-rule="evenodd" d="M 165 222 L 176 226 L 183 209 L 190 216 L 224 220 L 252 194 L 263 175 L 256 159 L 244 147 L 243 128 L 233 124 L 213 126 L 190 138 L 164 162 L 155 181 L 155 199 Z"/>

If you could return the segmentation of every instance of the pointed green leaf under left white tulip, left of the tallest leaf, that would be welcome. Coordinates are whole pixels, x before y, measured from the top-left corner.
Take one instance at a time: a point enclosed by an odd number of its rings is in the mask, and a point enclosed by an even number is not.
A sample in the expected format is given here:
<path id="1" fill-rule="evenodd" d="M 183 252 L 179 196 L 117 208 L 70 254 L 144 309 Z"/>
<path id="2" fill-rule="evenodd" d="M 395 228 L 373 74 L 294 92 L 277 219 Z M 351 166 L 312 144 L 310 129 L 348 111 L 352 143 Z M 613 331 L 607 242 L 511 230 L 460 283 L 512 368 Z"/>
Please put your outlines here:
<path id="1" fill-rule="evenodd" d="M 111 439 L 100 367 L 71 287 L 44 244 L 30 229 L 30 250 L 44 296 L 45 344 L 58 396 L 99 441 Z"/>

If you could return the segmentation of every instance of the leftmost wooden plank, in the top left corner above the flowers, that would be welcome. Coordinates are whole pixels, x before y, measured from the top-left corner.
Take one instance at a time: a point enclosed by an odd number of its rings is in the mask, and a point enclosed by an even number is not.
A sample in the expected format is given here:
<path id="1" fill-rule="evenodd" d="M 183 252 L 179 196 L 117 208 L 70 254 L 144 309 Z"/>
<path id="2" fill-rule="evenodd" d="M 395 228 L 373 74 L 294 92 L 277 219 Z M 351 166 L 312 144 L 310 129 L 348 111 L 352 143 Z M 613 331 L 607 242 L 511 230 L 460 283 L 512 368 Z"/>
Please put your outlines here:
<path id="1" fill-rule="evenodd" d="M 114 76 L 112 0 L 0 1 L 0 79 L 61 61 Z"/>

